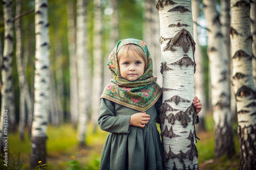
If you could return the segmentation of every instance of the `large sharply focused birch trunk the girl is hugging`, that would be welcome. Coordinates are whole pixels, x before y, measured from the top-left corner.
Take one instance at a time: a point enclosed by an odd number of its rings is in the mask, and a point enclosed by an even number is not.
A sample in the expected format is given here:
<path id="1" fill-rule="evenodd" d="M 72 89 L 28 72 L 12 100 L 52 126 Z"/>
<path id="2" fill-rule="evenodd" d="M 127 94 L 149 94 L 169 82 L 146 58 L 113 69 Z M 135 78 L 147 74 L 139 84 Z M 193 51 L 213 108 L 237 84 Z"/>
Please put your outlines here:
<path id="1" fill-rule="evenodd" d="M 161 136 L 166 169 L 198 169 L 194 99 L 195 42 L 191 1 L 159 0 L 163 104 Z"/>

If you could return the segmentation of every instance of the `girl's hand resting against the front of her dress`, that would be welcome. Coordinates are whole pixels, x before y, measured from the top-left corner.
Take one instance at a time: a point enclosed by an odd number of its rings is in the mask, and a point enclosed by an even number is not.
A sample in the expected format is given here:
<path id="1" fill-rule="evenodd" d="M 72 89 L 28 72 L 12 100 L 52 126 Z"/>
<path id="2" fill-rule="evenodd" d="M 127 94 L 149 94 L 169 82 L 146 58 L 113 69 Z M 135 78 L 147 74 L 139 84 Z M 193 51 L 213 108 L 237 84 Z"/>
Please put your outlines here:
<path id="1" fill-rule="evenodd" d="M 130 125 L 137 127 L 144 127 L 145 124 L 150 120 L 150 115 L 146 112 L 135 113 L 131 115 Z"/>

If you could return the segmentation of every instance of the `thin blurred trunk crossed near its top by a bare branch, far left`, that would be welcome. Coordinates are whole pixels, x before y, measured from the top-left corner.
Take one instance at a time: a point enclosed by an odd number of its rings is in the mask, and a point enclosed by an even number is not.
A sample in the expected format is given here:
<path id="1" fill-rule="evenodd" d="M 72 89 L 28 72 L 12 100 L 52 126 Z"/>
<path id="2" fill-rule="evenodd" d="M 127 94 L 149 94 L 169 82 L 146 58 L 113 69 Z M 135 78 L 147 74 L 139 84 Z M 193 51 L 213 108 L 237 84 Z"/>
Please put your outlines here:
<path id="1" fill-rule="evenodd" d="M 21 11 L 21 4 L 20 0 L 16 1 L 16 16 L 20 15 Z M 24 125 L 23 121 L 25 121 L 25 90 L 24 90 L 24 84 L 25 84 L 25 77 L 23 74 L 23 68 L 22 68 L 22 59 L 21 59 L 21 36 L 20 36 L 20 25 L 19 25 L 19 19 L 15 20 L 15 34 L 16 34 L 16 42 L 14 44 L 16 45 L 16 64 L 17 64 L 17 70 L 18 70 L 18 77 L 19 77 L 19 137 L 21 141 L 24 141 Z"/>

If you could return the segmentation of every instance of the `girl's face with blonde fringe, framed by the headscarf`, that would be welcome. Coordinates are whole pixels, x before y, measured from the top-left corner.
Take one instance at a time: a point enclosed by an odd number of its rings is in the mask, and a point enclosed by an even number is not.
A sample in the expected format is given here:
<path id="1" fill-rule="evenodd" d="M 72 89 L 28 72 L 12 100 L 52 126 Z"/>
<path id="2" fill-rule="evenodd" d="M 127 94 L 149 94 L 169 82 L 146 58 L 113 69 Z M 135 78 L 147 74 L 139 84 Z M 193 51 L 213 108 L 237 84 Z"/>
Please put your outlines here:
<path id="1" fill-rule="evenodd" d="M 145 61 L 135 51 L 129 50 L 128 56 L 121 56 L 118 62 L 121 76 L 135 81 L 144 73 Z"/>

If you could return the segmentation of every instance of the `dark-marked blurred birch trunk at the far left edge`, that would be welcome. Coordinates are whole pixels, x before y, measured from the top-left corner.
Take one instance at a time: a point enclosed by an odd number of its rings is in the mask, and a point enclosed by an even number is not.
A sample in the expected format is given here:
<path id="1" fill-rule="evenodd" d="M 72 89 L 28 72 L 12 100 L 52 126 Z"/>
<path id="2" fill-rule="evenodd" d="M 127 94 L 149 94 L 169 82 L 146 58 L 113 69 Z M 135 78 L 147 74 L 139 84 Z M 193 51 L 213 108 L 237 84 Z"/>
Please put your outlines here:
<path id="1" fill-rule="evenodd" d="M 1 86 L 1 120 L 0 120 L 0 138 L 1 138 L 1 153 L 3 153 L 4 128 L 8 129 L 8 133 L 15 128 L 15 104 L 14 104 L 14 90 L 12 87 L 12 64 L 13 64 L 13 9 L 10 0 L 3 0 L 4 13 L 4 50 L 1 67 L 2 86 Z M 9 6 L 10 5 L 10 6 Z M 5 114 L 6 113 L 6 114 Z M 8 116 L 8 122 L 4 122 L 4 115 Z M 6 116 L 5 116 L 6 117 Z M 7 125 L 7 126 L 5 126 Z M 7 134 L 8 134 L 7 133 Z"/>

